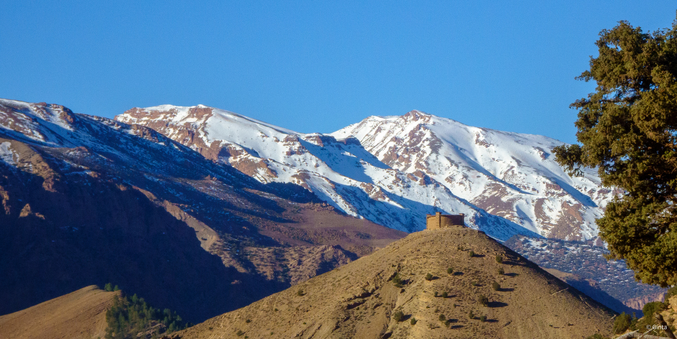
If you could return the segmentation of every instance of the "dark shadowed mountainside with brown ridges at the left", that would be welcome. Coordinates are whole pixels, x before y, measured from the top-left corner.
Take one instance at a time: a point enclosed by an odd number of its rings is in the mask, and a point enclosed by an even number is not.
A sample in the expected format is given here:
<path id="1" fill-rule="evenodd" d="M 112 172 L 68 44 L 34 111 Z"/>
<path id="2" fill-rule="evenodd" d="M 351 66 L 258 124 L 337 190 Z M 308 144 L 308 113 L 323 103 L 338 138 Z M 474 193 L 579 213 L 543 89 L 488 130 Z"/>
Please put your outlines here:
<path id="1" fill-rule="evenodd" d="M 0 315 L 110 282 L 196 322 L 404 235 L 146 126 L 14 100 L 0 100 L 0 200 Z"/>

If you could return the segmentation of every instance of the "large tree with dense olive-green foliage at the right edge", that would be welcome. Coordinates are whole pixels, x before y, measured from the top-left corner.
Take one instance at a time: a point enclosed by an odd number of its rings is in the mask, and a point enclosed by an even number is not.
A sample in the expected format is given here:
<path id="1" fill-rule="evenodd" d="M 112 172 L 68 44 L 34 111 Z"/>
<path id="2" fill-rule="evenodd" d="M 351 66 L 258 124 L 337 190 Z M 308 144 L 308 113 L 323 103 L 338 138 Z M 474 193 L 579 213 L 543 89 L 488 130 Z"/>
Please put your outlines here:
<path id="1" fill-rule="evenodd" d="M 662 287 L 677 284 L 676 35 L 677 20 L 653 33 L 626 21 L 601 31 L 599 56 L 577 78 L 596 91 L 571 104 L 581 145 L 554 149 L 569 174 L 598 167 L 604 186 L 626 191 L 597 220 L 607 258 Z"/>

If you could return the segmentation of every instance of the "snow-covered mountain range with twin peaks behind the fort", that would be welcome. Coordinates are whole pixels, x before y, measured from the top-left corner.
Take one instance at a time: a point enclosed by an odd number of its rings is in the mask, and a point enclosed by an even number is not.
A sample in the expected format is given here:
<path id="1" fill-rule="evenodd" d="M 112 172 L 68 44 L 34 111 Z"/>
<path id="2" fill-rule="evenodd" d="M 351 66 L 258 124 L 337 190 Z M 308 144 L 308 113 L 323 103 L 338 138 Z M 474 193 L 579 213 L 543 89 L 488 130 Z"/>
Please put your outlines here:
<path id="1" fill-rule="evenodd" d="M 209 106 L 133 108 L 118 121 L 151 127 L 260 182 L 291 182 L 343 212 L 402 231 L 424 214 L 466 214 L 497 239 L 596 236 L 613 193 L 594 172 L 569 178 L 544 136 L 471 127 L 411 111 L 303 134 Z"/>

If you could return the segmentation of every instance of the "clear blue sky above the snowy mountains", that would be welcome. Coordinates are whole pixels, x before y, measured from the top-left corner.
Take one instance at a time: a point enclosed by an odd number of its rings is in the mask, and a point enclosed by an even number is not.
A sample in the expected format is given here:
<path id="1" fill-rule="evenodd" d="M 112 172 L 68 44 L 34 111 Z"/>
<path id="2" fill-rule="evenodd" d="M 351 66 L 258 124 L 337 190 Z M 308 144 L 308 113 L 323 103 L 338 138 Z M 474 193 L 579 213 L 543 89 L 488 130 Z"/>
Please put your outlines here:
<path id="1" fill-rule="evenodd" d="M 206 104 L 299 132 L 418 109 L 575 142 L 599 31 L 677 8 L 514 3 L 1 0 L 0 98 L 104 117 Z"/>

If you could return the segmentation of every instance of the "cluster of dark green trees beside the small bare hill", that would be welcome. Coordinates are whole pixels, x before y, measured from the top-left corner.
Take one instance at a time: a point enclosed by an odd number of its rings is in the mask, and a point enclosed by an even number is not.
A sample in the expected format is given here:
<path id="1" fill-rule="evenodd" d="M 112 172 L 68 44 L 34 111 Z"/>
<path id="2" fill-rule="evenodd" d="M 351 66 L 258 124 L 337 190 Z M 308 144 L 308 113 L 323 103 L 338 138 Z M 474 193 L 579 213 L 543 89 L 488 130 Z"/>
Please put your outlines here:
<path id="1" fill-rule="evenodd" d="M 183 330 L 190 326 L 169 308 L 160 311 L 148 306 L 144 298 L 131 296 L 113 297 L 112 307 L 106 311 L 106 339 L 136 338 L 139 332 L 148 330 L 152 322 L 163 323 L 167 333 Z"/>

